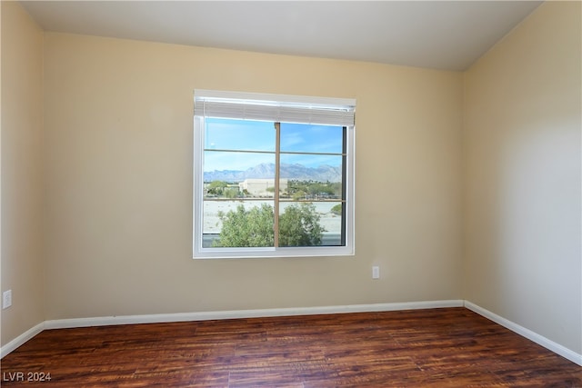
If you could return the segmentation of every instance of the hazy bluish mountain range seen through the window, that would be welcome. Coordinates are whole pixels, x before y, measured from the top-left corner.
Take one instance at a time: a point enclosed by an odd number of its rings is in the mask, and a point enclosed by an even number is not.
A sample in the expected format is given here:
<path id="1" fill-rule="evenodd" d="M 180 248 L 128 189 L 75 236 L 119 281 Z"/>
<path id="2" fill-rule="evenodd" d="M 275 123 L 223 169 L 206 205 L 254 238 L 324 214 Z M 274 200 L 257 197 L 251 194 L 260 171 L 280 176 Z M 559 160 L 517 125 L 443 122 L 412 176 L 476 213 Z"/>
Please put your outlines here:
<path id="1" fill-rule="evenodd" d="M 341 182 L 341 166 L 327 164 L 319 167 L 306 167 L 303 164 L 281 164 L 280 175 L 282 178 L 297 180 L 312 180 L 317 182 Z M 245 179 L 272 179 L 275 176 L 275 164 L 257 164 L 255 167 L 241 170 L 215 170 L 205 171 L 204 181 L 242 182 Z"/>

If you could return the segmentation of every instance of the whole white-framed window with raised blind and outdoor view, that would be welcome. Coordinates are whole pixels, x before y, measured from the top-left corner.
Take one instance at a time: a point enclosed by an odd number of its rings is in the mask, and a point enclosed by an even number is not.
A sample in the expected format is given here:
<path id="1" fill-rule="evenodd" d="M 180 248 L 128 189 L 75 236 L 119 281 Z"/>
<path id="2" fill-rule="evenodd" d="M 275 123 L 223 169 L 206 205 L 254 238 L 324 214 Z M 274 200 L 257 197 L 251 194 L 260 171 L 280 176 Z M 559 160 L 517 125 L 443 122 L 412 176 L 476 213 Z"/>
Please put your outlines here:
<path id="1" fill-rule="evenodd" d="M 194 257 L 354 254 L 354 110 L 196 90 Z"/>

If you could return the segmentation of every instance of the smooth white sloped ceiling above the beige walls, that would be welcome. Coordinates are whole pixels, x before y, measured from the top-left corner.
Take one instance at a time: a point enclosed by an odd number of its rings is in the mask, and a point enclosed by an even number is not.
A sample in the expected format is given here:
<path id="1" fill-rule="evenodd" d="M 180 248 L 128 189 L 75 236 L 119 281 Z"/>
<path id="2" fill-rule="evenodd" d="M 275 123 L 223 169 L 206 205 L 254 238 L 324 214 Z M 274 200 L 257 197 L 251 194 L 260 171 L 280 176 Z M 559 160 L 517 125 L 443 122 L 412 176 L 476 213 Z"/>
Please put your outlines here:
<path id="1" fill-rule="evenodd" d="M 47 31 L 465 70 L 539 1 L 24 1 Z"/>

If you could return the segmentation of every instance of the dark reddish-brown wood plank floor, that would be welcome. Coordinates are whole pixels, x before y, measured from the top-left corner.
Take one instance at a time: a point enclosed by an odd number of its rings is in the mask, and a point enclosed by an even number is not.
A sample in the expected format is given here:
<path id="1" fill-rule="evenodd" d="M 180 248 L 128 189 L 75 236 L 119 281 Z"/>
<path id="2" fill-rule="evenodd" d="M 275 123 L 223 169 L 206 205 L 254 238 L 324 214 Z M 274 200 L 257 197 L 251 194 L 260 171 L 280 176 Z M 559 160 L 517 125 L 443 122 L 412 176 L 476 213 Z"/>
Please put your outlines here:
<path id="1" fill-rule="evenodd" d="M 23 387 L 582 387 L 582 367 L 464 308 L 48 330 L 1 369 Z"/>

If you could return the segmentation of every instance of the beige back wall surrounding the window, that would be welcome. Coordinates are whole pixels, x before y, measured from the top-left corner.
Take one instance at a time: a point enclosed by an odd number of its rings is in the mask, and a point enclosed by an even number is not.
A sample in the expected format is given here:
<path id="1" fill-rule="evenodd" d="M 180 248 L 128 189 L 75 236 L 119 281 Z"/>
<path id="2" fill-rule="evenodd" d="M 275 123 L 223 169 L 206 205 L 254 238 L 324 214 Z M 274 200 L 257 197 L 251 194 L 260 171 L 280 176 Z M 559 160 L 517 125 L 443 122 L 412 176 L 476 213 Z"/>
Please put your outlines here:
<path id="1" fill-rule="evenodd" d="M 45 319 L 461 298 L 462 82 L 47 33 Z M 192 259 L 195 88 L 357 99 L 355 257 Z"/>

